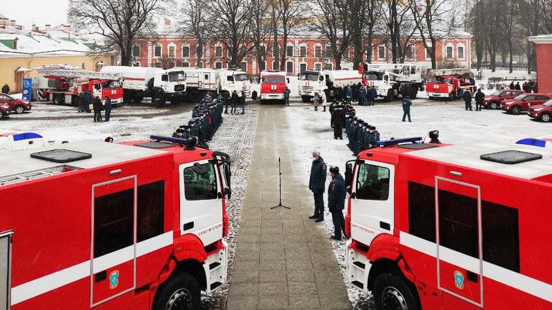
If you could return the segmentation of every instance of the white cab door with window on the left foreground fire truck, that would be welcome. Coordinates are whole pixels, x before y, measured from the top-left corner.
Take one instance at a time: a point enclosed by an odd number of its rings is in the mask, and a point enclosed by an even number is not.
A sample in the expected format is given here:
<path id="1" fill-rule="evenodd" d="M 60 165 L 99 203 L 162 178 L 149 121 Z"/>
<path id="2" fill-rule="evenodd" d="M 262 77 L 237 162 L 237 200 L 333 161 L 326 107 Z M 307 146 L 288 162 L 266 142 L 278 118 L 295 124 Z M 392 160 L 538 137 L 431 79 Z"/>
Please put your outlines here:
<path id="1" fill-rule="evenodd" d="M 215 163 L 179 166 L 180 232 L 194 234 L 204 245 L 222 238 L 222 194 Z"/>

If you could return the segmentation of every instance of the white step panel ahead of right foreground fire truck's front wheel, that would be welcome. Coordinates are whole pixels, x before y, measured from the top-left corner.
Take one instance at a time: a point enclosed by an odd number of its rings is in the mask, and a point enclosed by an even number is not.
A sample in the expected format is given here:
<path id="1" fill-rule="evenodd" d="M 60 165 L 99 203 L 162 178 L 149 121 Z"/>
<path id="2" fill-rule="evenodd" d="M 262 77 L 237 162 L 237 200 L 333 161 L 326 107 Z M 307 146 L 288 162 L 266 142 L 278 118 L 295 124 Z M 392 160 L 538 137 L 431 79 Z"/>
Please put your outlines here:
<path id="1" fill-rule="evenodd" d="M 355 251 L 353 241 L 346 244 L 347 276 L 356 289 L 368 293 L 368 275 L 372 267 L 366 253 Z"/>

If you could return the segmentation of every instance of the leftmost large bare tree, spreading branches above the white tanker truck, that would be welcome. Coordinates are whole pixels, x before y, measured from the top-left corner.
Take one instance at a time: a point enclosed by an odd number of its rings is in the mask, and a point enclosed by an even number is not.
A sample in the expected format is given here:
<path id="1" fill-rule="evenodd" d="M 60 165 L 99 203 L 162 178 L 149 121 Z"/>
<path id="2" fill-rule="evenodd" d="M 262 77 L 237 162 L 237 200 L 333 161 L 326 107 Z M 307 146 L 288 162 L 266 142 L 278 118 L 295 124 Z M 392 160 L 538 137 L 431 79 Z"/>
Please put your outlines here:
<path id="1" fill-rule="evenodd" d="M 69 0 L 68 19 L 77 30 L 104 37 L 100 49 L 117 46 L 121 65 L 130 65 L 137 38 L 155 33 L 152 17 L 160 8 L 158 0 Z"/>

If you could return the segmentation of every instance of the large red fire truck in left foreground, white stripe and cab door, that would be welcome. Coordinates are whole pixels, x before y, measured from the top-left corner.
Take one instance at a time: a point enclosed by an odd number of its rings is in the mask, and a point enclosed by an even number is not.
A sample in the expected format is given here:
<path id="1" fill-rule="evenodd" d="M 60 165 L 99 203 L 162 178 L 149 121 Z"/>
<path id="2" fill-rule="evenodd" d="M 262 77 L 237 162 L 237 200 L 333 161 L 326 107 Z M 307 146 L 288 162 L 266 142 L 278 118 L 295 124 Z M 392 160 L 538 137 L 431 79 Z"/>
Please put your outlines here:
<path id="1" fill-rule="evenodd" d="M 0 309 L 197 309 L 226 280 L 230 158 L 194 144 L 0 154 Z"/>

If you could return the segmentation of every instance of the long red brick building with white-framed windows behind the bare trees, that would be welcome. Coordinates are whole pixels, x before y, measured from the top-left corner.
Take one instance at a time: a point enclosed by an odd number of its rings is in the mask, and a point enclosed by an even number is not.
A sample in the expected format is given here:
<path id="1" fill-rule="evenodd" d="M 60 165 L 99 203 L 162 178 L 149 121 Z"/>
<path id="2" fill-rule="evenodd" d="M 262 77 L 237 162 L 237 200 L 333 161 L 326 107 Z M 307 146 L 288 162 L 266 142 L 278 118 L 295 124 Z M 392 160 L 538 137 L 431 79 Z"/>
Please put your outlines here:
<path id="1" fill-rule="evenodd" d="M 471 34 L 459 32 L 437 42 L 437 63 L 453 61 L 462 67 L 471 68 Z M 271 45 L 271 43 L 270 43 Z M 268 56 L 264 63 L 259 63 L 254 56 L 246 56 L 242 62 L 242 70 L 250 75 L 258 75 L 260 71 L 277 70 L 274 68 L 272 47 L 268 46 Z M 279 42 L 282 50 L 283 42 Z M 284 70 L 288 75 L 296 75 L 304 70 L 335 69 L 335 60 L 329 56 L 328 41 L 319 35 L 302 34 L 289 37 L 286 47 Z M 254 53 L 252 53 L 254 54 Z M 411 39 L 406 62 L 427 65 L 431 68 L 431 58 L 419 38 Z M 194 39 L 184 39 L 177 34 L 162 34 L 155 41 L 143 41 L 133 49 L 133 65 L 148 67 L 204 67 L 228 68 L 228 51 L 220 41 L 210 41 L 204 45 L 201 63 L 197 63 L 197 44 Z M 350 59 L 353 48 L 342 60 L 342 68 L 353 68 Z M 366 55 L 365 55 L 366 59 Z M 388 63 L 392 61 L 391 48 L 388 43 L 373 41 L 373 63 Z"/>

